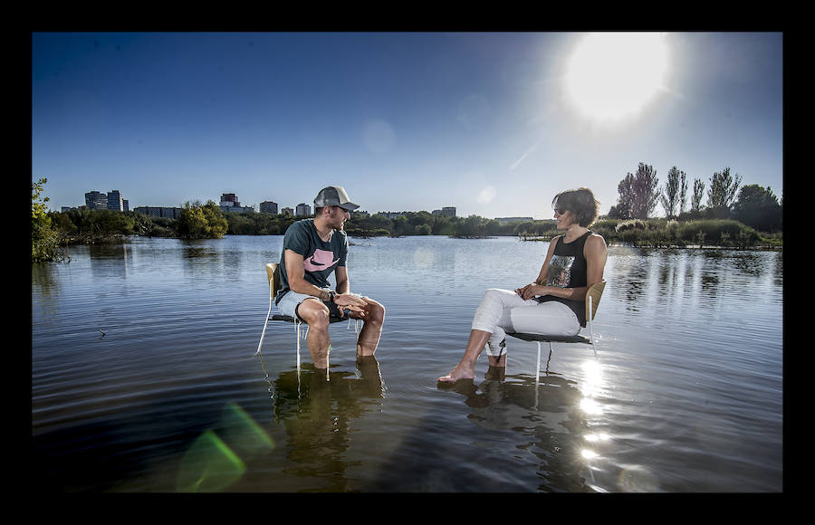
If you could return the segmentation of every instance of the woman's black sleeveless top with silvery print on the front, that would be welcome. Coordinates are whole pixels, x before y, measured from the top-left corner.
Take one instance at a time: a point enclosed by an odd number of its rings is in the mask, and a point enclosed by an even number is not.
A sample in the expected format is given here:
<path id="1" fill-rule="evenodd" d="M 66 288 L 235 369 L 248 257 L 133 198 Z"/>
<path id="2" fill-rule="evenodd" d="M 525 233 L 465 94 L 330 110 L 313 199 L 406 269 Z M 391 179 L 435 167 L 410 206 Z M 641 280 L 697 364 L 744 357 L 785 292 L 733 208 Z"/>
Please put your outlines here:
<path id="1" fill-rule="evenodd" d="M 564 243 L 563 236 L 558 238 L 555 244 L 554 253 L 549 262 L 549 278 L 546 281 L 548 286 L 558 286 L 560 288 L 580 288 L 587 283 L 587 262 L 583 254 L 583 247 L 591 231 L 580 235 L 571 243 Z M 586 326 L 586 302 L 561 299 L 552 295 L 544 295 L 538 298 L 539 302 L 558 301 L 568 306 L 580 321 L 580 326 Z"/>

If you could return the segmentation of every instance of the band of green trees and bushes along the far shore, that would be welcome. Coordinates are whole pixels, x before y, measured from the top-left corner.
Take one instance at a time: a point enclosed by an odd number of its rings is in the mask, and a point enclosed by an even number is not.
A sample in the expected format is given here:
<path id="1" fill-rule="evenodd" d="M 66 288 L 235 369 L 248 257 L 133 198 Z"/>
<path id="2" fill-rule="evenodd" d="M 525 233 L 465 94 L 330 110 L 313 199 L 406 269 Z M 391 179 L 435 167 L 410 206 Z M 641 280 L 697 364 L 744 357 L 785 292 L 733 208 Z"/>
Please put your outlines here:
<path id="1" fill-rule="evenodd" d="M 707 205 L 702 205 L 705 184 L 696 179 L 694 195 L 686 190 L 683 172 L 672 168 L 665 186 L 658 186 L 656 171 L 640 163 L 637 174 L 628 174 L 619 186 L 618 204 L 600 217 L 592 230 L 607 243 L 638 246 L 718 245 L 730 247 L 780 246 L 781 205 L 772 190 L 748 185 L 736 191 L 741 177 L 729 169 L 711 177 Z M 638 180 L 639 178 L 639 180 Z M 32 184 L 32 261 L 59 261 L 60 246 L 71 243 L 110 243 L 129 235 L 180 239 L 219 238 L 225 234 L 275 235 L 300 217 L 264 213 L 224 214 L 213 201 L 187 202 L 178 219 L 136 212 L 72 209 L 47 211 L 43 177 Z M 684 188 L 684 189 L 683 189 Z M 647 193 L 647 196 L 643 196 Z M 689 201 L 688 201 L 689 199 Z M 690 203 L 690 206 L 686 206 Z M 666 217 L 649 217 L 657 204 Z M 553 220 L 499 223 L 479 215 L 457 217 L 427 211 L 408 212 L 396 218 L 352 212 L 345 230 L 352 237 L 447 235 L 482 238 L 518 235 L 522 239 L 549 240 L 560 234 Z"/>

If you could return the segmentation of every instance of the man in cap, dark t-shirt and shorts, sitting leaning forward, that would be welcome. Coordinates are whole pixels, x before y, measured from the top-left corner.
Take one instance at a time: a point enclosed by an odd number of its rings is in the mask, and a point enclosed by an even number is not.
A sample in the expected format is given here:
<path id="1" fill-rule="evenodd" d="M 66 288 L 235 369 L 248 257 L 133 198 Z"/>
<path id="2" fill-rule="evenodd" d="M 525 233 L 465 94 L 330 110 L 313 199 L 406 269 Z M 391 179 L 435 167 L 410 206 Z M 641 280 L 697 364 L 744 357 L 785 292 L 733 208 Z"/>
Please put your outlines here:
<path id="1" fill-rule="evenodd" d="M 281 313 L 309 325 L 306 343 L 318 368 L 328 367 L 331 317 L 363 321 L 357 339 L 358 359 L 373 356 L 379 345 L 385 308 L 350 292 L 348 236 L 342 226 L 358 207 L 350 202 L 342 186 L 324 187 L 314 199 L 314 218 L 292 224 L 283 237 L 281 290 L 275 302 Z M 333 291 L 328 281 L 332 272 L 337 281 Z"/>

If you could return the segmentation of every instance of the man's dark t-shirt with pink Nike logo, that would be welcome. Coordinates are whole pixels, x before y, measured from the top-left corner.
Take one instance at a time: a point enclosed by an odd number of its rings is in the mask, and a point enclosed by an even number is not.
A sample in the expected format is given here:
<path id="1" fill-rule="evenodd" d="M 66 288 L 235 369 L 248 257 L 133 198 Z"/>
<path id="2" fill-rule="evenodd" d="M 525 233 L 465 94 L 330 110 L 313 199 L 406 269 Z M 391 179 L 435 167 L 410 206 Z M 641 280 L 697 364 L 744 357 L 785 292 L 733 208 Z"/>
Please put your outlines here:
<path id="1" fill-rule="evenodd" d="M 331 288 L 329 276 L 337 266 L 345 266 L 348 259 L 348 235 L 334 230 L 328 242 L 317 234 L 314 219 L 302 219 L 289 226 L 283 236 L 283 250 L 280 253 L 280 292 L 275 303 L 280 302 L 289 291 L 289 276 L 286 273 L 286 250 L 302 255 L 305 280 L 318 288 Z"/>

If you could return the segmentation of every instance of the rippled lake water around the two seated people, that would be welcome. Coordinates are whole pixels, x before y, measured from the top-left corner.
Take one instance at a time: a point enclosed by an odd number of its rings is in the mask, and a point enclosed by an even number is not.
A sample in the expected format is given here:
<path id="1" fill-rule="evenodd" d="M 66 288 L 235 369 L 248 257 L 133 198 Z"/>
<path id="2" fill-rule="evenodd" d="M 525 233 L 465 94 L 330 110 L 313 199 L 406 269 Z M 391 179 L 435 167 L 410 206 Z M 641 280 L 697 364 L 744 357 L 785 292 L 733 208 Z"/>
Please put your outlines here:
<path id="1" fill-rule="evenodd" d="M 484 289 L 548 243 L 353 240 L 377 356 L 331 326 L 318 374 L 270 323 L 282 236 L 72 246 L 32 271 L 38 486 L 65 492 L 781 492 L 781 253 L 610 247 L 597 358 L 507 341 L 505 377 L 438 387 Z M 544 350 L 543 359 L 548 356 Z"/>

